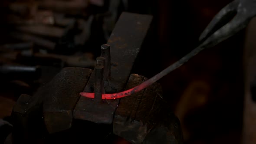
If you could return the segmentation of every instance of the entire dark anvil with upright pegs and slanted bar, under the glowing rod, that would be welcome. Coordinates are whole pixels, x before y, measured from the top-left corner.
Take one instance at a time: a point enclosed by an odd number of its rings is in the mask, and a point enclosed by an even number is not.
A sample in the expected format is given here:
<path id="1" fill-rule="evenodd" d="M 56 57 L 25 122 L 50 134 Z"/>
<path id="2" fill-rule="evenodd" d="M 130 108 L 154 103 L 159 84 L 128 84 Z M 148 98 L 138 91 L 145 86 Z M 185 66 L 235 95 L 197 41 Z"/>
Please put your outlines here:
<path id="1" fill-rule="evenodd" d="M 134 144 L 180 144 L 179 121 L 165 109 L 158 83 L 121 99 L 101 97 L 146 80 L 131 69 L 151 20 L 148 15 L 122 13 L 108 43 L 101 46 L 94 70 L 64 68 L 35 95 L 21 95 L 12 113 L 13 142 L 94 144 L 106 143 L 113 134 Z M 95 98 L 80 92 L 94 92 Z"/>

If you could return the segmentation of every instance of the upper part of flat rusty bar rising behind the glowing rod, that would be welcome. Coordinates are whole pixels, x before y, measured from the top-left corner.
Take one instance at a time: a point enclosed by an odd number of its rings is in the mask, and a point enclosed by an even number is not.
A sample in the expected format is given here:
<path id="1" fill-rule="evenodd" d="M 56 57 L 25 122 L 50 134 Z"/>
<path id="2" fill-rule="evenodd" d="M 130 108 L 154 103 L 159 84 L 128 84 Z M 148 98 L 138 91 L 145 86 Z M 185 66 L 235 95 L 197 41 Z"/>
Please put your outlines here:
<path id="1" fill-rule="evenodd" d="M 115 92 L 125 88 L 131 69 L 148 32 L 152 16 L 122 13 L 108 39 L 111 47 L 111 82 Z"/>

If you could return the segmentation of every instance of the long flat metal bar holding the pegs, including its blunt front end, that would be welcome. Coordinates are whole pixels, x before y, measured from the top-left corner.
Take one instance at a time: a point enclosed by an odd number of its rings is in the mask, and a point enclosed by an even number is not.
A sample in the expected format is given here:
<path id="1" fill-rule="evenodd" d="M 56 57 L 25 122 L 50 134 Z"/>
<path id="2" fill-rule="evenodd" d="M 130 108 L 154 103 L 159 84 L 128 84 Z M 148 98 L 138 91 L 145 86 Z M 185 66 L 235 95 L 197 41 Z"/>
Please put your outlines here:
<path id="1" fill-rule="evenodd" d="M 119 92 L 125 88 L 151 20 L 152 16 L 149 15 L 126 12 L 121 14 L 112 35 L 108 39 L 112 65 L 110 69 L 111 79 L 105 81 L 105 93 Z M 108 60 L 109 58 L 105 56 L 108 52 L 104 53 L 104 47 L 102 49 L 102 56 Z M 92 72 L 84 92 L 94 91 L 94 72 Z M 89 107 L 92 101 L 90 98 L 80 97 L 73 111 L 74 118 L 111 124 L 119 100 L 104 100 L 102 103 L 91 104 L 92 106 Z"/>

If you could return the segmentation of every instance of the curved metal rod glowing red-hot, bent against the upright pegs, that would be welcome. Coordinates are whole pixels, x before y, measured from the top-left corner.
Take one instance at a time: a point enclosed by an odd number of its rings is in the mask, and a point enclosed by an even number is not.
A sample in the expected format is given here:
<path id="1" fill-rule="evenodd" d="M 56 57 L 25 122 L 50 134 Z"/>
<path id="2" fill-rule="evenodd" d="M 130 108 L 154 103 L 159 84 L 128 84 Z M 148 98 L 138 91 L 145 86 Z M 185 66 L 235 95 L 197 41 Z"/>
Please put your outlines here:
<path id="1" fill-rule="evenodd" d="M 157 75 L 154 75 L 151 79 L 148 79 L 147 81 L 141 83 L 140 85 L 138 85 L 134 88 L 128 89 L 124 92 L 118 92 L 118 93 L 114 93 L 114 94 L 102 94 L 102 99 L 123 98 L 125 96 L 128 96 L 128 95 L 134 94 L 136 92 L 139 92 L 139 91 L 143 90 L 144 88 L 147 88 L 149 85 L 153 84 L 154 82 L 158 81 L 159 79 L 161 79 L 162 77 L 164 77 L 165 75 L 167 75 L 168 73 L 173 71 L 174 69 L 177 69 L 178 67 L 183 65 L 191 57 L 195 56 L 198 52 L 200 52 L 203 49 L 204 49 L 204 47 L 202 47 L 202 46 L 197 47 L 196 49 L 194 49 L 193 51 L 188 53 L 186 56 L 181 58 L 179 61 L 175 62 L 174 64 L 172 64 L 170 66 L 168 66 L 162 72 L 158 73 Z M 90 93 L 90 92 L 81 92 L 80 95 L 82 95 L 84 97 L 87 97 L 87 98 L 94 98 L 94 93 Z"/>

